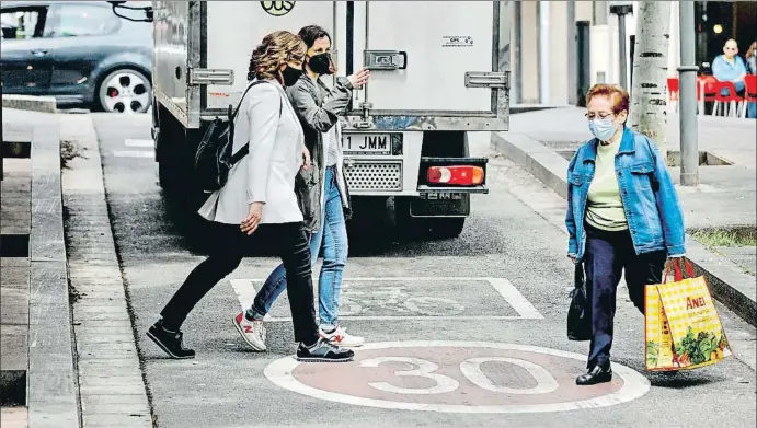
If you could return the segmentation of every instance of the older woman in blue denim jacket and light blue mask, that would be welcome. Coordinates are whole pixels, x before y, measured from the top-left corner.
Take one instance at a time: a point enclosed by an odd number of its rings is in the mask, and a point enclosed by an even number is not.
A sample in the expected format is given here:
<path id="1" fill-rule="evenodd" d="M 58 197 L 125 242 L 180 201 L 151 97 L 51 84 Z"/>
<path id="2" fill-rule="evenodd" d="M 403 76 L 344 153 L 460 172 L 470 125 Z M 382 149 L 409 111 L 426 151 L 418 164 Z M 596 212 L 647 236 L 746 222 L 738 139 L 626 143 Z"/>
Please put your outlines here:
<path id="1" fill-rule="evenodd" d="M 567 256 L 583 263 L 592 314 L 588 371 L 578 385 L 609 382 L 616 293 L 621 273 L 644 312 L 644 286 L 662 282 L 667 258 L 683 257 L 684 213 L 665 159 L 626 127 L 629 95 L 597 84 L 587 94 L 589 129 L 567 166 Z"/>

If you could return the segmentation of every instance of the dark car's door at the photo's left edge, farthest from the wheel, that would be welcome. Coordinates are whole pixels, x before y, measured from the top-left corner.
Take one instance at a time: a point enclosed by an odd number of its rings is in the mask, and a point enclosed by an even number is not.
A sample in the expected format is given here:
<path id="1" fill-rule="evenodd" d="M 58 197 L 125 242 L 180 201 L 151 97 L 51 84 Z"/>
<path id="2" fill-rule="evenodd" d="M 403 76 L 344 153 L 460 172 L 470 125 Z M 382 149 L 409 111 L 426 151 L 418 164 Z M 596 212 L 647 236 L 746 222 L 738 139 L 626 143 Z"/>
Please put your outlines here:
<path id="1" fill-rule="evenodd" d="M 46 5 L 0 11 L 3 93 L 42 95 L 49 89 L 53 65 L 49 41 L 45 38 L 49 31 L 47 11 Z"/>

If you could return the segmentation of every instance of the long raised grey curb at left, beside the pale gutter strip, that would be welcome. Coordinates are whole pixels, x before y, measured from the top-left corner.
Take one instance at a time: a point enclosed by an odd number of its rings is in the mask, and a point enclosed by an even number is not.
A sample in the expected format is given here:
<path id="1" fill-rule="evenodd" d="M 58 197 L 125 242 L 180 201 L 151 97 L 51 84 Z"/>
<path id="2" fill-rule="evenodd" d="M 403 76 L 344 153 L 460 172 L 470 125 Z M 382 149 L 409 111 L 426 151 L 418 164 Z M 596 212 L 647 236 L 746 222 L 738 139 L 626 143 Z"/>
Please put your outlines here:
<path id="1" fill-rule="evenodd" d="M 34 127 L 31 160 L 28 426 L 78 428 L 56 117 Z"/>

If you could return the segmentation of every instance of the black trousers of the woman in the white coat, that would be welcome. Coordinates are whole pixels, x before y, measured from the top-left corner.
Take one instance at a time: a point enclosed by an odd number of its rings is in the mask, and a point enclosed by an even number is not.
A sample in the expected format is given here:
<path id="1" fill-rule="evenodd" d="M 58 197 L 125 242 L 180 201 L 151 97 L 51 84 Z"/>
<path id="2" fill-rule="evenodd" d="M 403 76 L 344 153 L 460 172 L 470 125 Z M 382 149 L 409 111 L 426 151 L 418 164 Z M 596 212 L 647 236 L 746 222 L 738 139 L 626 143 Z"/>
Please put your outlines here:
<path id="1" fill-rule="evenodd" d="M 186 277 L 161 315 L 167 328 L 176 331 L 192 309 L 213 287 L 231 274 L 244 258 L 246 234 L 239 225 L 213 223 L 217 230 L 208 258 Z M 262 242 L 275 245 L 287 276 L 287 296 L 295 327 L 295 340 L 312 345 L 318 340 L 313 285 L 310 268 L 310 246 L 305 225 L 299 223 L 261 224 L 254 233 Z"/>

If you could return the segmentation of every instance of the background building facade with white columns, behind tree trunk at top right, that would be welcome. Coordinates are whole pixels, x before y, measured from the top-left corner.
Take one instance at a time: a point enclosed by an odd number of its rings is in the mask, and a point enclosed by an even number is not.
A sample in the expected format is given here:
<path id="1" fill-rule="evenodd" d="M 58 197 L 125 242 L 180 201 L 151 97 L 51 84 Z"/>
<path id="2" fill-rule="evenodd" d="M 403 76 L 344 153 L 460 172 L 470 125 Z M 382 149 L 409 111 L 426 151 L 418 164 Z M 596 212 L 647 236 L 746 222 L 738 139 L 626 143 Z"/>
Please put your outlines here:
<path id="1" fill-rule="evenodd" d="M 632 13 L 619 18 L 611 5 L 630 3 Z M 515 1 L 512 26 L 513 104 L 577 104 L 578 86 L 619 83 L 630 86 L 632 42 L 638 1 Z M 678 1 L 670 1 L 668 76 L 679 63 Z M 744 55 L 757 34 L 757 2 L 696 2 L 697 62 L 709 72 L 726 39 L 736 38 Z M 624 20 L 626 60 L 621 60 L 620 25 Z M 583 46 L 586 43 L 588 46 Z M 621 63 L 626 81 L 621 82 Z M 583 76 L 582 76 L 583 74 Z"/>

